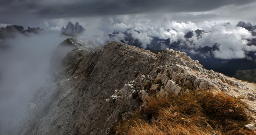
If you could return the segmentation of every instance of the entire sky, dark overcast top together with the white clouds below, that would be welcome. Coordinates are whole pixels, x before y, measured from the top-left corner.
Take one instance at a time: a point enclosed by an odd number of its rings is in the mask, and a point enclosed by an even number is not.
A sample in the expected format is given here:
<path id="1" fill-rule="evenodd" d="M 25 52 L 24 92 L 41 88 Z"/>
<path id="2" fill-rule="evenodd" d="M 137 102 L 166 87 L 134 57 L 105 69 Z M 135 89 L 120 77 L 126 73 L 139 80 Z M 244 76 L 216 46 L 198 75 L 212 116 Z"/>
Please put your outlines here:
<path id="1" fill-rule="evenodd" d="M 247 46 L 246 40 L 254 38 L 250 32 L 235 27 L 239 21 L 256 25 L 255 7 L 255 0 L 2 0 L 0 27 L 12 24 L 60 32 L 68 22 L 79 22 L 86 29 L 81 36 L 101 45 L 124 37 L 110 39 L 108 34 L 135 28 L 140 33 L 129 32 L 141 48 L 147 48 L 152 37 L 175 42 L 200 29 L 208 33 L 190 39 L 196 45 L 189 47 L 212 47 L 218 41 L 221 46 L 214 57 L 233 59 L 246 57 L 246 50 L 255 51 Z M 231 26 L 223 27 L 226 22 Z"/>

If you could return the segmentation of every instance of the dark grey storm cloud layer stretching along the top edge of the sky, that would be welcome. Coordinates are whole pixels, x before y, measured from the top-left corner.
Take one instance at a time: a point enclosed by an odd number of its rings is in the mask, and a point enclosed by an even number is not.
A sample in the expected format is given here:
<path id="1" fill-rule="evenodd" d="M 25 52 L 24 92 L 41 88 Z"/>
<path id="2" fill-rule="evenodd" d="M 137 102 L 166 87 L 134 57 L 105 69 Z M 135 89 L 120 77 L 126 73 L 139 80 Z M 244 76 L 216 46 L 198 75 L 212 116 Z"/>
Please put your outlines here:
<path id="1" fill-rule="evenodd" d="M 138 13 L 203 12 L 226 5 L 244 5 L 254 0 L 3 0 L 0 22 L 33 18 L 65 18 Z"/>

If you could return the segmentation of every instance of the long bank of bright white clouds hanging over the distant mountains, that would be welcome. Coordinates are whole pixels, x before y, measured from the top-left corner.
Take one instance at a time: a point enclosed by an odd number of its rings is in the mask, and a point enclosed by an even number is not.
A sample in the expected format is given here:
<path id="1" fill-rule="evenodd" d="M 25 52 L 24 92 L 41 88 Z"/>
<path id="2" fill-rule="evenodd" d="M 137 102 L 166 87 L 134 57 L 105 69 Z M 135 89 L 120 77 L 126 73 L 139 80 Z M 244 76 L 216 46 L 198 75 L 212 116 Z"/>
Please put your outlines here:
<path id="1" fill-rule="evenodd" d="M 193 49 L 205 46 L 212 47 L 215 43 L 218 43 L 219 50 L 214 51 L 214 57 L 220 59 L 244 58 L 246 57 L 246 51 L 256 51 L 256 46 L 247 45 L 247 39 L 256 38 L 252 36 L 250 31 L 236 27 L 236 24 L 225 25 L 225 21 L 176 22 L 172 21 L 169 16 L 152 21 L 142 15 L 122 15 L 94 18 L 90 21 L 81 20 L 79 23 L 86 29 L 82 37 L 94 40 L 102 45 L 108 41 L 123 40 L 125 37 L 123 32 L 129 29 L 127 33 L 131 34 L 132 38 L 138 39 L 142 48 L 147 48 L 151 44 L 152 38 L 157 37 L 159 39 L 170 39 L 171 43 L 184 40 L 186 43 L 182 45 Z M 201 34 L 201 38 L 198 38 L 194 32 L 197 29 L 205 31 Z M 114 31 L 120 33 L 115 37 L 109 37 L 108 34 L 113 34 Z M 193 37 L 186 39 L 184 36 L 189 31 L 193 31 Z M 166 46 L 162 44 L 162 48 L 164 47 Z"/>

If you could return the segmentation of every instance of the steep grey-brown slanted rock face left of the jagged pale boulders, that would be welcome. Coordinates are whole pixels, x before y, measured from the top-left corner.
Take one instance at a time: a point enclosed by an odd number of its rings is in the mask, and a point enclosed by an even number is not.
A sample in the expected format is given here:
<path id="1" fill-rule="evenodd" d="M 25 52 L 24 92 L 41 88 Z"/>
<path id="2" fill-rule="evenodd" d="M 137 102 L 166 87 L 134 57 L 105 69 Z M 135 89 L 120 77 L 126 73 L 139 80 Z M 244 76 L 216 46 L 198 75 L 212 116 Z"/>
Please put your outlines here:
<path id="1" fill-rule="evenodd" d="M 68 53 L 67 66 L 37 91 L 31 101 L 36 107 L 14 134 L 105 134 L 119 114 L 106 99 L 136 72 L 152 70 L 149 63 L 155 60 L 150 52 L 128 47 L 113 42 L 95 52 Z M 73 55 L 78 58 L 65 61 Z"/>

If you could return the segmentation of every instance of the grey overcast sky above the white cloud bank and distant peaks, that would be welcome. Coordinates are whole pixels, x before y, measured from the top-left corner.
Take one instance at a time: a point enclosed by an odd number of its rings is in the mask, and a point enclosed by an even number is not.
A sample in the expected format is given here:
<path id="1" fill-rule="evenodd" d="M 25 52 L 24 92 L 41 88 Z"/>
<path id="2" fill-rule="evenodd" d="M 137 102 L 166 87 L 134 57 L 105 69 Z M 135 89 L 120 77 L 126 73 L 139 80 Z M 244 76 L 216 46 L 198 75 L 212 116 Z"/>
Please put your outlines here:
<path id="1" fill-rule="evenodd" d="M 151 21 L 169 17 L 177 22 L 245 21 L 256 25 L 255 7 L 255 0 L 1 0 L 0 23 L 45 29 L 72 20 L 90 23 L 128 15 Z"/>

